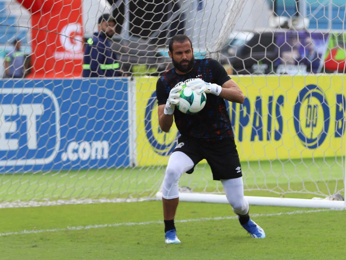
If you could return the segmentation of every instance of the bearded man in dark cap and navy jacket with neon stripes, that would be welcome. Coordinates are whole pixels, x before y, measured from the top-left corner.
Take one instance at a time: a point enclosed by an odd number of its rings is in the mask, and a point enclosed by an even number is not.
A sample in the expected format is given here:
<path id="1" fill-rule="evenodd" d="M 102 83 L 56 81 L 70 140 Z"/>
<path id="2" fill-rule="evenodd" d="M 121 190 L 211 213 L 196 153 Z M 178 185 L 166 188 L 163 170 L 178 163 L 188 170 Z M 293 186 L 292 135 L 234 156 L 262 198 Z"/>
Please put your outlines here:
<path id="1" fill-rule="evenodd" d="M 98 32 L 85 46 L 83 77 L 118 77 L 120 65 L 111 48 L 116 20 L 110 14 L 103 14 L 98 24 Z"/>

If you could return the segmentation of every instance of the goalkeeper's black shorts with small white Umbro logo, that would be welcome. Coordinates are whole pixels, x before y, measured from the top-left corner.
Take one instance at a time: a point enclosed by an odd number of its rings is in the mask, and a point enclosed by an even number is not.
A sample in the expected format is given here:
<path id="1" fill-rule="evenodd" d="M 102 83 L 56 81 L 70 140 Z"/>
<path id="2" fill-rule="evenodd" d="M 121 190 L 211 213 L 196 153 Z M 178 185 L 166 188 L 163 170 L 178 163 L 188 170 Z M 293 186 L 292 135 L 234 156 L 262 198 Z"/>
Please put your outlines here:
<path id="1" fill-rule="evenodd" d="M 233 137 L 221 140 L 204 141 L 200 138 L 180 136 L 175 151 L 181 151 L 191 158 L 193 168 L 206 159 L 213 174 L 213 180 L 228 180 L 242 177 L 239 156 Z"/>

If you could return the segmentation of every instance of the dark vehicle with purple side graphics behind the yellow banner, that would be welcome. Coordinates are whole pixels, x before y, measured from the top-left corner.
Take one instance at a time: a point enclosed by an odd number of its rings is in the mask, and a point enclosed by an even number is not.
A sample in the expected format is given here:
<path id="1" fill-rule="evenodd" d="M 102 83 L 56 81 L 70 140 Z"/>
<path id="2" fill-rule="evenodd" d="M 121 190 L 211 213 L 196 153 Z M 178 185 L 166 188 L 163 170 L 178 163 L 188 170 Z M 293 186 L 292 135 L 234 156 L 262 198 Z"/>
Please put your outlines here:
<path id="1" fill-rule="evenodd" d="M 308 74 L 324 69 L 328 33 L 238 32 L 221 51 L 232 74 Z M 226 59 L 226 58 L 227 59 Z"/>

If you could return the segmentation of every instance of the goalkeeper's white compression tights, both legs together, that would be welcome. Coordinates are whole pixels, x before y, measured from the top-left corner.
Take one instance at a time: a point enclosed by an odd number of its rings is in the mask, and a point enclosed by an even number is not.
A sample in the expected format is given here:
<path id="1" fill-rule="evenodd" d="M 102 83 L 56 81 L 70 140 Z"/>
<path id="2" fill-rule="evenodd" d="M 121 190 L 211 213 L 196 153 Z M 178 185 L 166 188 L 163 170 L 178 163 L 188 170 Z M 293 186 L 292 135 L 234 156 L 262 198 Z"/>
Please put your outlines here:
<path id="1" fill-rule="evenodd" d="M 192 169 L 193 162 L 189 156 L 181 151 L 171 154 L 167 164 L 165 178 L 162 185 L 162 197 L 175 199 L 179 197 L 180 176 Z M 236 214 L 245 215 L 249 211 L 249 203 L 244 198 L 243 178 L 221 180 L 227 200 Z"/>

